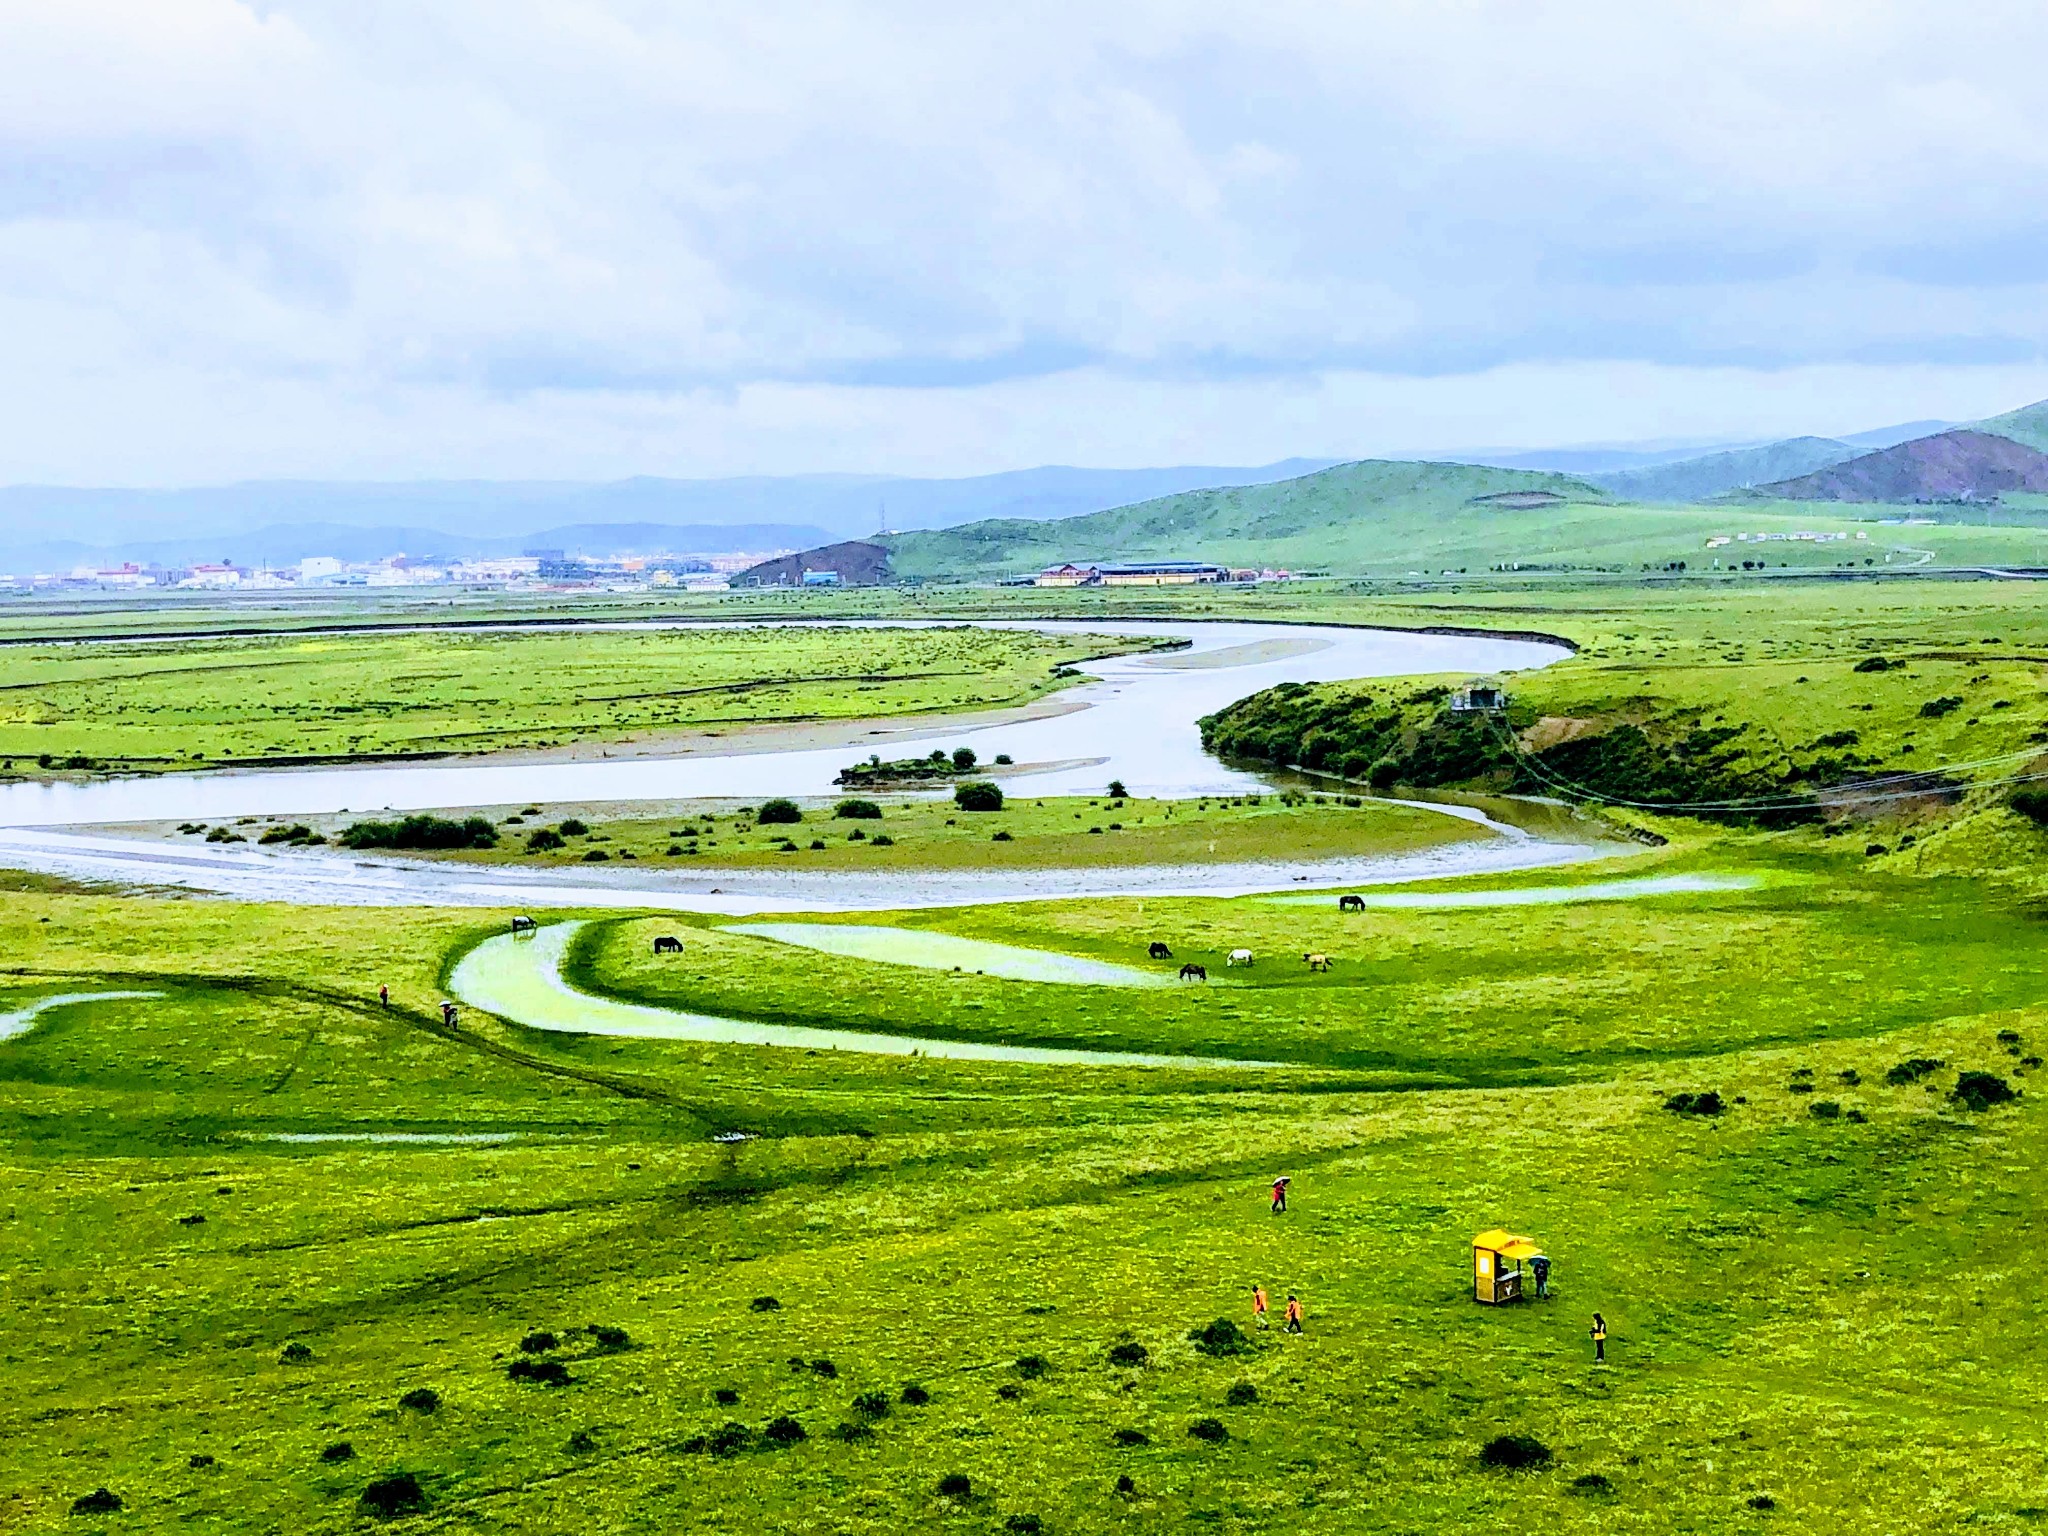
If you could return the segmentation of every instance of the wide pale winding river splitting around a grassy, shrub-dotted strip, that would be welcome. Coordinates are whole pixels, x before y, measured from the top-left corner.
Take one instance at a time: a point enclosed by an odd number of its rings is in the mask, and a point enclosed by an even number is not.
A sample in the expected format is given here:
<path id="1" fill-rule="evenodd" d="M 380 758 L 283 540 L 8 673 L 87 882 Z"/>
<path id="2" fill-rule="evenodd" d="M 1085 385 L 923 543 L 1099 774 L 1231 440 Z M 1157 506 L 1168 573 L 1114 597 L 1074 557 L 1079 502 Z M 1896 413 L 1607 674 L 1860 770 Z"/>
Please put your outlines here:
<path id="1" fill-rule="evenodd" d="M 940 621 L 926 621 L 940 623 Z M 1171 621 L 1032 621 L 1004 629 L 1186 639 L 1186 649 L 1087 664 L 1092 682 L 1055 698 L 1053 713 L 995 723 L 944 719 L 850 721 L 844 741 L 899 752 L 907 741 L 971 745 L 983 762 L 1016 760 L 1030 795 L 1100 793 L 1120 778 L 1133 795 L 1198 797 L 1266 788 L 1255 774 L 1202 752 L 1198 721 L 1280 682 L 1337 682 L 1417 674 L 1479 676 L 1548 666 L 1561 645 L 1483 635 L 1421 635 L 1337 625 Z M 231 821 L 260 815 L 385 813 L 520 805 L 633 805 L 829 797 L 831 778 L 860 745 L 692 750 L 672 758 L 582 762 L 272 768 L 219 774 L 104 778 L 82 784 L 0 786 L 0 864 L 76 879 L 162 885 L 262 901 L 340 905 L 582 905 L 705 911 L 887 909 L 1071 895 L 1223 895 L 1288 885 L 1376 885 L 1446 874 L 1507 872 L 1593 856 L 1585 844 L 1538 838 L 1464 807 L 1432 807 L 1483 821 L 1495 838 L 1419 854 L 1313 862 L 1204 864 L 1122 870 L 905 872 L 895 877 L 797 870 L 559 870 L 457 868 L 403 858 L 248 844 L 193 846 L 94 831 L 109 823 Z M 1612 846 L 1599 852 L 1612 854 Z"/>

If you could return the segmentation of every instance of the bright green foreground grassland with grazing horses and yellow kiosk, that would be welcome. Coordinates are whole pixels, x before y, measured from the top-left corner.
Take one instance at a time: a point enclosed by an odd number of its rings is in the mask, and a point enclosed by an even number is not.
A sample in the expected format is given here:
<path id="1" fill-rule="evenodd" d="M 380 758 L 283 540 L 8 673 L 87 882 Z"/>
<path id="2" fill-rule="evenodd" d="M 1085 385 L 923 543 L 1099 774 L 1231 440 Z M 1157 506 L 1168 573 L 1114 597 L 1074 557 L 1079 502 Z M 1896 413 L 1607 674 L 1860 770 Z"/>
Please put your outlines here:
<path id="1" fill-rule="evenodd" d="M 1767 844 L 1700 858 L 1778 862 Z M 2021 1081 L 1997 1036 L 2032 1053 L 2048 1030 L 2040 924 L 1966 881 L 1788 872 L 1810 879 L 1540 913 L 944 920 L 1126 963 L 1151 936 L 1339 956 L 1329 977 L 1262 961 L 1229 987 L 1118 991 L 1094 1020 L 1071 1010 L 1085 989 L 899 967 L 862 989 L 827 956 L 764 965 L 762 942 L 748 958 L 694 928 L 662 973 L 707 1001 L 967 1028 L 983 999 L 1020 1032 L 1362 1053 L 1466 1083 L 1436 1092 L 479 1018 L 446 1034 L 438 975 L 494 918 L 10 897 L 0 940 L 43 975 L 8 977 L 0 1008 L 172 993 L 0 1044 L 10 1524 L 80 1526 L 70 1501 L 106 1487 L 123 1530 L 350 1530 L 395 1470 L 428 1524 L 594 1532 L 1620 1532 L 1726 1528 L 1753 1499 L 1802 1526 L 2032 1518 L 2048 1366 L 2013 1255 L 2048 1124 L 2032 1096 L 1974 1114 L 1946 1094 L 1962 1067 Z M 598 963 L 616 944 L 637 965 L 641 932 L 614 930 Z M 1153 1004 L 1174 1012 L 1128 1012 Z M 1886 1085 L 1913 1057 L 1948 1067 Z M 1505 1085 L 1518 1071 L 1552 1081 Z M 1704 1090 L 1722 1116 L 1661 1108 Z M 758 1139 L 709 1141 L 727 1128 Z M 274 1133 L 522 1139 L 250 1139 Z M 1294 1208 L 1272 1217 L 1280 1171 Z M 1499 1223 L 1554 1255 L 1552 1303 L 1470 1303 L 1468 1239 Z M 1307 1335 L 1198 1354 L 1192 1327 L 1249 1323 L 1253 1280 L 1303 1296 Z M 508 1376 L 539 1329 L 565 1386 Z M 1145 1364 L 1112 1364 L 1118 1343 Z M 399 1405 L 418 1389 L 434 1411 Z M 776 1448 L 784 1415 L 807 1438 Z M 1190 1436 L 1202 1419 L 1227 1438 Z M 1552 1464 L 1487 1470 L 1497 1434 L 1540 1438 Z M 324 1458 L 338 1444 L 352 1454 Z M 965 1497 L 938 1493 L 946 1475 Z"/>

